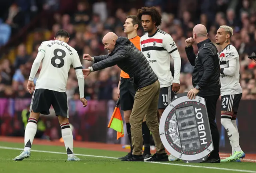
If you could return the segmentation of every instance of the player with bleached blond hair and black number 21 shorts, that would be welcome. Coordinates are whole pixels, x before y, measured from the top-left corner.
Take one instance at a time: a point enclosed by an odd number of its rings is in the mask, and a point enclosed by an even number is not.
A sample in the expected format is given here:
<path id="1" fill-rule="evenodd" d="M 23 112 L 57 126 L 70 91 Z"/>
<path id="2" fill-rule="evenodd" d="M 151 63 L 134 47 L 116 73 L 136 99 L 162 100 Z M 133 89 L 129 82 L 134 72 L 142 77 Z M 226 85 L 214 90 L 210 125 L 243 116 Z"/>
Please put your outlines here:
<path id="1" fill-rule="evenodd" d="M 220 160 L 221 162 L 240 161 L 241 158 L 245 157 L 239 144 L 239 133 L 236 125 L 236 114 L 242 98 L 242 88 L 239 83 L 239 54 L 236 48 L 230 44 L 232 35 L 233 29 L 229 26 L 220 26 L 216 33 L 216 43 L 222 48 L 219 53 L 221 124 L 226 129 L 232 146 L 232 155 Z"/>

